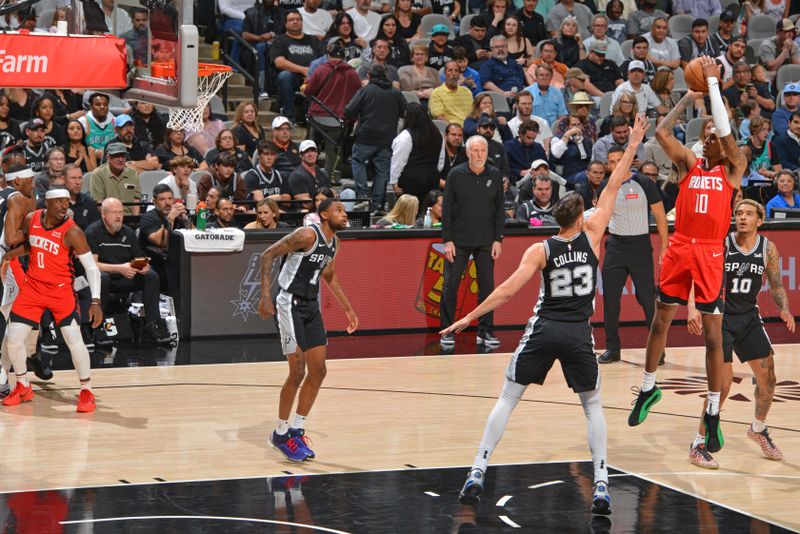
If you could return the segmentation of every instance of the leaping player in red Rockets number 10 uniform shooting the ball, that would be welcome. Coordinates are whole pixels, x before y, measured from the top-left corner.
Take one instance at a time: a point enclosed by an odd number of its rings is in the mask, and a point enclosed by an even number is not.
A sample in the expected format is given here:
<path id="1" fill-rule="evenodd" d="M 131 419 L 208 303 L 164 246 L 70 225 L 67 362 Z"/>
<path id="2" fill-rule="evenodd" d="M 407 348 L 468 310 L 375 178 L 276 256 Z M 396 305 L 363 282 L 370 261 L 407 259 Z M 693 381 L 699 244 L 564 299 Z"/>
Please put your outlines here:
<path id="1" fill-rule="evenodd" d="M 642 387 L 628 417 L 641 424 L 661 399 L 656 387 L 658 359 L 667 345 L 667 331 L 679 304 L 686 305 L 694 285 L 697 309 L 703 314 L 708 375 L 708 404 L 703 415 L 705 448 L 720 450 L 724 444 L 719 426 L 722 391 L 722 301 L 725 236 L 731 223 L 731 204 L 742 182 L 747 159 L 736 146 L 730 120 L 719 89 L 719 67 L 710 57 L 699 59 L 708 81 L 715 131 L 703 141 L 703 157 L 679 143 L 672 135 L 678 117 L 698 95 L 689 91 L 656 129 L 656 138 L 678 167 L 680 192 L 675 205 L 675 233 L 661 262 L 656 316 L 650 326 Z"/>

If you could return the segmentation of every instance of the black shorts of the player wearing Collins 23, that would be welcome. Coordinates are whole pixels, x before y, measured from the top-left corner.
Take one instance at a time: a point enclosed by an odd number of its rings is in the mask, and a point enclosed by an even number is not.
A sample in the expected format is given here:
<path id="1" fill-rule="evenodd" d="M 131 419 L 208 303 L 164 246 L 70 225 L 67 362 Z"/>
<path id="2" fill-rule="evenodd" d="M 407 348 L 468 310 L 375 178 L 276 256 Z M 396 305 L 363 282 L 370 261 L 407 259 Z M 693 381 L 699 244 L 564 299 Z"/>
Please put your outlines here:
<path id="1" fill-rule="evenodd" d="M 553 362 L 561 362 L 567 384 L 575 393 L 597 387 L 597 357 L 592 325 L 533 317 L 508 364 L 506 376 L 518 384 L 544 384 Z"/>

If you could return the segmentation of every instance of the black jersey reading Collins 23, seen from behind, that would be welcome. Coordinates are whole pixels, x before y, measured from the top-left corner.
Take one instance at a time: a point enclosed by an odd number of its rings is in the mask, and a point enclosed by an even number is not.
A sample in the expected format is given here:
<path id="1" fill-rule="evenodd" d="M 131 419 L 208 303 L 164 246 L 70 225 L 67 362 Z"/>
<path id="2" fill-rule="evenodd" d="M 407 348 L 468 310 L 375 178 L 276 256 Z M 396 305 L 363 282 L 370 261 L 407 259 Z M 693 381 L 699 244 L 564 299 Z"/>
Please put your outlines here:
<path id="1" fill-rule="evenodd" d="M 554 321 L 583 322 L 594 313 L 597 265 L 586 232 L 566 241 L 557 236 L 544 241 L 547 265 L 542 270 L 542 288 L 534 310 Z"/>

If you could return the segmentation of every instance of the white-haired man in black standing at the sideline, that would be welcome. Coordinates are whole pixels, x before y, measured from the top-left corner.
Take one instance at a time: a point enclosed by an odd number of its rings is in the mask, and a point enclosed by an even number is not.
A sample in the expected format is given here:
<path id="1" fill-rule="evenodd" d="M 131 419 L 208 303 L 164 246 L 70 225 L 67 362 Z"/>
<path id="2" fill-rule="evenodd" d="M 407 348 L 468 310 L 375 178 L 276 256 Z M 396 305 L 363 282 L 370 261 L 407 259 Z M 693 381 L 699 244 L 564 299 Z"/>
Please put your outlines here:
<path id="1" fill-rule="evenodd" d="M 469 161 L 453 167 L 444 188 L 442 204 L 442 240 L 444 241 L 444 289 L 440 318 L 442 328 L 455 319 L 458 286 L 467 260 L 474 258 L 478 271 L 478 302 L 494 290 L 494 260 L 500 257 L 505 214 L 503 212 L 503 177 L 497 168 L 487 165 L 488 143 L 480 136 L 467 140 Z M 492 332 L 493 315 L 478 321 L 478 344 L 497 347 L 500 342 Z M 455 344 L 452 334 L 442 336 L 444 348 Z"/>

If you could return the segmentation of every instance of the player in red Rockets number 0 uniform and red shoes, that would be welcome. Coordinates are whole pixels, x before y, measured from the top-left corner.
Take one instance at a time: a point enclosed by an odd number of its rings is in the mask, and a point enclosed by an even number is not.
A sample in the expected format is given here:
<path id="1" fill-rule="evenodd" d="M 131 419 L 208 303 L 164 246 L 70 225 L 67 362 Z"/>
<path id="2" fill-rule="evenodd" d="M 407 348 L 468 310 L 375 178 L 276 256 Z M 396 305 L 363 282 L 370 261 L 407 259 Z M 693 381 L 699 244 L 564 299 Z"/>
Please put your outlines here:
<path id="1" fill-rule="evenodd" d="M 78 411 L 92 412 L 95 409 L 91 380 L 91 361 L 89 350 L 81 336 L 81 317 L 75 291 L 72 268 L 73 254 L 83 264 L 86 279 L 92 293 L 89 317 L 92 327 L 97 328 L 103 320 L 100 308 L 100 269 L 86 243 L 83 230 L 75 224 L 67 212 L 70 208 L 69 191 L 51 189 L 45 194 L 47 208 L 29 213 L 25 217 L 23 246 L 6 253 L 5 257 L 15 257 L 30 253 L 30 263 L 25 283 L 11 307 L 10 321 L 6 339 L 9 357 L 17 376 L 17 385 L 11 394 L 3 399 L 4 406 L 16 406 L 33 399 L 33 388 L 28 382 L 25 363 L 27 351 L 25 339 L 31 329 L 39 324 L 44 310 L 53 314 L 53 319 L 61 329 L 64 342 L 72 354 L 72 363 L 78 372 L 81 392 L 78 396 Z M 23 370 L 20 373 L 18 370 Z"/>

